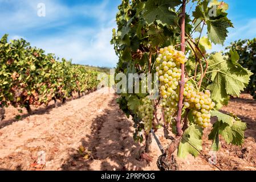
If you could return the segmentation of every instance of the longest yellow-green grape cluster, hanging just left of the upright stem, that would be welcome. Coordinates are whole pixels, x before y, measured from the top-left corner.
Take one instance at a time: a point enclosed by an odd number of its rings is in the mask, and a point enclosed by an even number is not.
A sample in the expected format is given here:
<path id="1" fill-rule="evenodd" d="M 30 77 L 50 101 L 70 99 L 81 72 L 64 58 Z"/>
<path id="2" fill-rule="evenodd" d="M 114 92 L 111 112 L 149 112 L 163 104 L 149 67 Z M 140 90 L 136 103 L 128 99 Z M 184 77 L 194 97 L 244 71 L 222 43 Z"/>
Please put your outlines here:
<path id="1" fill-rule="evenodd" d="M 177 51 L 173 46 L 161 48 L 156 59 L 162 97 L 160 106 L 164 109 L 166 122 L 172 121 L 172 115 L 177 111 L 181 64 L 186 61 L 184 52 Z"/>

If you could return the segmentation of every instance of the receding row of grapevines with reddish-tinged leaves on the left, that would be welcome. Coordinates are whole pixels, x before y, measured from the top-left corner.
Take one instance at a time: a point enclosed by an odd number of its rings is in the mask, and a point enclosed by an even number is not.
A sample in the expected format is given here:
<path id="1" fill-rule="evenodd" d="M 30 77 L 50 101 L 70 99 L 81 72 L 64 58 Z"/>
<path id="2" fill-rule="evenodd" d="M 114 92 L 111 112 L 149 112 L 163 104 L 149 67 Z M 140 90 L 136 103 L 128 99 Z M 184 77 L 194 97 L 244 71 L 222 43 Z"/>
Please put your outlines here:
<path id="1" fill-rule="evenodd" d="M 23 39 L 8 42 L 7 35 L 0 40 L 0 63 L 1 112 L 13 105 L 26 107 L 31 113 L 30 105 L 48 105 L 51 100 L 64 102 L 75 93 L 95 90 L 99 83 L 99 72 L 46 55 Z"/>

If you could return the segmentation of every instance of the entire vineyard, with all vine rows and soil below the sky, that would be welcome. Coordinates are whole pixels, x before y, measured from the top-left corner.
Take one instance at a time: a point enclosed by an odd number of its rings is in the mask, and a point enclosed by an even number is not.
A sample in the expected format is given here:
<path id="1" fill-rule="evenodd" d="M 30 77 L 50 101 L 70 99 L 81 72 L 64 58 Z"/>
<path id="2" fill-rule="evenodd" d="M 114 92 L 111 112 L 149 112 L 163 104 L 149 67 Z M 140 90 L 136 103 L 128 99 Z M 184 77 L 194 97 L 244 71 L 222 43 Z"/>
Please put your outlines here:
<path id="1" fill-rule="evenodd" d="M 122 0 L 114 74 L 4 35 L 0 170 L 255 171 L 255 39 L 224 47 L 228 9 Z"/>

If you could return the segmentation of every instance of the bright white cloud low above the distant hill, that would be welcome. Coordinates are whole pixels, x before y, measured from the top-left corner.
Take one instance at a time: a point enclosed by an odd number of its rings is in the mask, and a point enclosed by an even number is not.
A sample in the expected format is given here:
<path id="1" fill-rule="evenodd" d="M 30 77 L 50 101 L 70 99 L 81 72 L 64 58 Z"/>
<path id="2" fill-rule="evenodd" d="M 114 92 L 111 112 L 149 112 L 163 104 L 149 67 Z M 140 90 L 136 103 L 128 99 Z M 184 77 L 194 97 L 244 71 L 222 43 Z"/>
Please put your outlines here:
<path id="1" fill-rule="evenodd" d="M 60 35 L 39 37 L 30 40 L 32 45 L 43 48 L 47 53 L 72 59 L 73 63 L 115 67 L 117 57 L 110 45 L 112 27 L 100 30 L 81 31 L 72 28 Z M 92 38 L 90 39 L 91 35 Z"/>

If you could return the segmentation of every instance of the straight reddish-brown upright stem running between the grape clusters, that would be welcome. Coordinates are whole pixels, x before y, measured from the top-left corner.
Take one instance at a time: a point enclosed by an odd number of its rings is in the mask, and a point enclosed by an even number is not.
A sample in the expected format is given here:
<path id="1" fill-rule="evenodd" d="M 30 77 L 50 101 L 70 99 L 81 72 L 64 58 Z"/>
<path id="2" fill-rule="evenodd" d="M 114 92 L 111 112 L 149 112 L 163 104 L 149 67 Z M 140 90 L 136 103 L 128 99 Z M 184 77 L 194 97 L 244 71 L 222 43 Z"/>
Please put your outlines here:
<path id="1" fill-rule="evenodd" d="M 182 13 L 181 13 L 181 51 L 185 53 L 185 14 L 186 12 L 186 0 L 182 1 Z M 181 113 L 183 106 L 183 92 L 185 85 L 185 64 L 181 64 L 181 81 L 180 81 L 180 94 L 178 98 L 178 113 L 176 118 L 177 136 L 182 135 L 181 129 Z"/>

